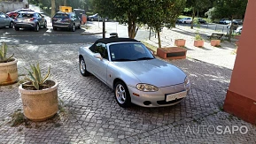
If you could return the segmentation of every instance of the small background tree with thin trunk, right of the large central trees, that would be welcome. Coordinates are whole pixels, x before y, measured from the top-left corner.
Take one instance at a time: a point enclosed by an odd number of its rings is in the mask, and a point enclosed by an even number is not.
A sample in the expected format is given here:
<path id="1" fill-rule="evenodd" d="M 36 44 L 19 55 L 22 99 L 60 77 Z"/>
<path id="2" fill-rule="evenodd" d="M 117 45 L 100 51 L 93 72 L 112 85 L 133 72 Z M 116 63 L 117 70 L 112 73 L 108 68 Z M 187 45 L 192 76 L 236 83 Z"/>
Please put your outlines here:
<path id="1" fill-rule="evenodd" d="M 194 27 L 194 18 L 196 11 L 204 11 L 211 6 L 210 0 L 188 0 L 187 1 L 187 10 L 192 11 L 192 22 L 191 29 Z"/>

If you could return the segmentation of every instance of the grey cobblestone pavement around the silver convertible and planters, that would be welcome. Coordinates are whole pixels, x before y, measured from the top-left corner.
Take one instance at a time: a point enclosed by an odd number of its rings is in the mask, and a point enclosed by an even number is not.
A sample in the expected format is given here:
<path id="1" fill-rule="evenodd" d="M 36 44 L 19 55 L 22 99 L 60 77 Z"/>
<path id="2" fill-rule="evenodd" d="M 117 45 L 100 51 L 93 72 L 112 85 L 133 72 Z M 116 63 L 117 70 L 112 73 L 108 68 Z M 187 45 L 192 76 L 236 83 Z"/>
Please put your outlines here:
<path id="1" fill-rule="evenodd" d="M 59 111 L 46 122 L 12 127 L 11 115 L 22 110 L 19 84 L 0 87 L 0 143 L 256 143 L 255 125 L 222 111 L 229 68 L 190 58 L 168 61 L 189 74 L 189 96 L 171 107 L 122 109 L 111 88 L 81 76 L 78 48 L 84 45 L 10 46 L 19 59 L 19 79 L 31 63 L 39 62 L 44 72 L 51 65 L 51 80 L 59 82 Z M 195 131 L 203 125 L 206 129 Z M 218 125 L 245 125 L 248 132 L 217 133 Z"/>

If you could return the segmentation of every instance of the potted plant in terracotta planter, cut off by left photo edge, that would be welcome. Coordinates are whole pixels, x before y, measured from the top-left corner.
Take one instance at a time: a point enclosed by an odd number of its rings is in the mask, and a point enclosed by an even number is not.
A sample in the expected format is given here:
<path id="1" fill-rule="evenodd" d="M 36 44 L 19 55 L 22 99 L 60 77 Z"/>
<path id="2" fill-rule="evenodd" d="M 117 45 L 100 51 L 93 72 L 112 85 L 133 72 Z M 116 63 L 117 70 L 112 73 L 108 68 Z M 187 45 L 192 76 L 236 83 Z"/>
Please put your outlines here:
<path id="1" fill-rule="evenodd" d="M 18 80 L 18 60 L 13 58 L 14 54 L 10 57 L 6 57 L 6 54 L 7 44 L 2 42 L 0 49 L 0 86 L 12 84 Z"/>

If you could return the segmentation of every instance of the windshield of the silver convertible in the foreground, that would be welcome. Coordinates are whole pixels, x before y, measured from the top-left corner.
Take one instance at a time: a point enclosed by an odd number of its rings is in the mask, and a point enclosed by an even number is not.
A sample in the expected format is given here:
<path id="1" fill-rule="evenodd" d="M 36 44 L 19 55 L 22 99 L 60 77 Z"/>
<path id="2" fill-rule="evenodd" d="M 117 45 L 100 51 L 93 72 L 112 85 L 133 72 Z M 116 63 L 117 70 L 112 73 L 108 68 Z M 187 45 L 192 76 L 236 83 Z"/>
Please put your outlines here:
<path id="1" fill-rule="evenodd" d="M 142 43 L 119 43 L 109 47 L 112 61 L 136 61 L 153 59 L 151 51 Z"/>

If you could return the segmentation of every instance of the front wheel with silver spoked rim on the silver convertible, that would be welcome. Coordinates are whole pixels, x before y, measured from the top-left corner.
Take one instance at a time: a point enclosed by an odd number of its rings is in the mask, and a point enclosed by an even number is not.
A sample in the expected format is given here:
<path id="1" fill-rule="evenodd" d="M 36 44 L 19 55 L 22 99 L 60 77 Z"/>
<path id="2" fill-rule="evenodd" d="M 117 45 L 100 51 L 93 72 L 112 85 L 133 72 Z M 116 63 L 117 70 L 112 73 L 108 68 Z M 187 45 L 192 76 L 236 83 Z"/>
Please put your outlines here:
<path id="1" fill-rule="evenodd" d="M 114 96 L 120 107 L 128 108 L 131 105 L 131 98 L 128 92 L 128 87 L 124 82 L 118 81 L 115 83 Z"/>

